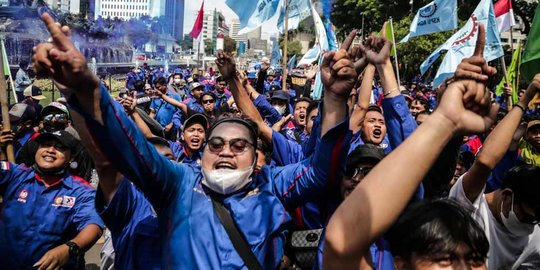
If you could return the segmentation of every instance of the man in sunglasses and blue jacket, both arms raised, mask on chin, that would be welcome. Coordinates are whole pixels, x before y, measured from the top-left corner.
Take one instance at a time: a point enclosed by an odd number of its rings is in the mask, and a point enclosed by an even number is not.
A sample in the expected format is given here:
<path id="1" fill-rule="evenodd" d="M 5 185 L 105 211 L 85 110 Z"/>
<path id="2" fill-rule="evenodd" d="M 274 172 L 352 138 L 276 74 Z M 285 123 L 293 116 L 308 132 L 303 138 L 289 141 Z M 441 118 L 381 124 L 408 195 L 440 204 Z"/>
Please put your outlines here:
<path id="1" fill-rule="evenodd" d="M 350 137 L 346 101 L 357 78 L 347 50 L 355 33 L 349 35 L 342 49 L 326 54 L 321 65 L 326 93 L 315 154 L 285 167 L 265 166 L 253 174 L 257 131 L 240 118 L 222 119 L 208 130 L 201 171 L 159 155 L 121 106 L 100 87 L 84 56 L 66 36 L 67 27 L 55 24 L 48 14 L 42 19 L 53 42 L 37 46 L 34 67 L 73 89 L 71 93 L 65 91 L 72 95 L 69 104 L 82 113 L 100 150 L 152 203 L 164 240 L 162 266 L 246 267 L 213 210 L 214 201 L 230 213 L 257 262 L 265 268 L 276 268 L 290 221 L 285 208 L 323 192 L 326 181 L 336 179 L 343 171 Z M 231 87 L 243 87 L 231 56 L 219 52 L 216 64 Z"/>

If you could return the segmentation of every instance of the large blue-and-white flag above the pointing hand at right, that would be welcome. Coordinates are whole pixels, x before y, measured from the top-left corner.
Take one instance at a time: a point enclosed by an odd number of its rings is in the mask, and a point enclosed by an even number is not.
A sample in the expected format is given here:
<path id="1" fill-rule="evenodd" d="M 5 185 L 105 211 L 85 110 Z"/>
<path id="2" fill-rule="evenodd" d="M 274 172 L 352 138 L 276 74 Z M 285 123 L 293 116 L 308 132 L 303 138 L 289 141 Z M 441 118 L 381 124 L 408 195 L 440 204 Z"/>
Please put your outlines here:
<path id="1" fill-rule="evenodd" d="M 435 75 L 435 79 L 433 79 L 433 87 L 441 85 L 445 79 L 454 74 L 457 66 L 464 58 L 473 55 L 476 39 L 478 38 L 479 24 L 486 26 L 486 46 L 484 47 L 484 58 L 486 61 L 492 61 L 504 55 L 501 39 L 497 30 L 493 2 L 491 0 L 482 0 L 465 26 L 456 32 L 442 46 L 437 48 L 420 66 L 420 71 L 424 74 L 429 66 L 439 58 L 441 53 L 447 51 L 441 66 Z"/>

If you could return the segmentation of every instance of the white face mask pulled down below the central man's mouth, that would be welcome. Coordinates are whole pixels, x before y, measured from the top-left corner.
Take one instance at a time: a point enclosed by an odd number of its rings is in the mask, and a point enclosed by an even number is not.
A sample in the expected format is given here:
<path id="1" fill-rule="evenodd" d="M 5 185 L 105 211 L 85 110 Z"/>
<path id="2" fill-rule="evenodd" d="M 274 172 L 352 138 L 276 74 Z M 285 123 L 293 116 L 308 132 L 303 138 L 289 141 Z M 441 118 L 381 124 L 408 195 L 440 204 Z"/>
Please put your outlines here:
<path id="1" fill-rule="evenodd" d="M 227 195 L 249 184 L 252 173 L 253 165 L 241 170 L 202 168 L 202 183 L 217 193 Z"/>

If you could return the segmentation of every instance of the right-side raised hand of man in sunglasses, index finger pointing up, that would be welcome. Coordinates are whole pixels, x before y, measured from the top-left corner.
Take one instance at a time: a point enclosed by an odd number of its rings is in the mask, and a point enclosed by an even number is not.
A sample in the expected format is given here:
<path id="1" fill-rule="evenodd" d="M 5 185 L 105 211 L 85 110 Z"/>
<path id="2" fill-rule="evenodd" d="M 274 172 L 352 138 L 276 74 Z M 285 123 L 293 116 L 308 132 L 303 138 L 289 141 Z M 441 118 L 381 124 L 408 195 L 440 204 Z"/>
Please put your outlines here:
<path id="1" fill-rule="evenodd" d="M 355 36 L 356 31 L 352 31 L 339 51 L 324 55 L 321 63 L 321 80 L 325 87 L 325 95 L 330 94 L 340 100 L 347 100 L 349 97 L 357 73 L 347 51 Z"/>

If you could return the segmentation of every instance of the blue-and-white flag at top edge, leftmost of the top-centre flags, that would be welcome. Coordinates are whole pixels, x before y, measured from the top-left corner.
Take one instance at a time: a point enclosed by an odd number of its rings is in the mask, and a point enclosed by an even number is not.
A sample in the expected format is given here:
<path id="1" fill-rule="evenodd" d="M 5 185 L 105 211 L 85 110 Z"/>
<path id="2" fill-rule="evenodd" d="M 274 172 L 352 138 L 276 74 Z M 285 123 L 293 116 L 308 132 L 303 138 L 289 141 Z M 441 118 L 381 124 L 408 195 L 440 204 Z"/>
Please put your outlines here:
<path id="1" fill-rule="evenodd" d="M 282 0 L 226 0 L 225 4 L 240 19 L 239 35 L 257 29 L 270 20 L 283 5 Z"/>

